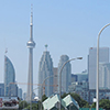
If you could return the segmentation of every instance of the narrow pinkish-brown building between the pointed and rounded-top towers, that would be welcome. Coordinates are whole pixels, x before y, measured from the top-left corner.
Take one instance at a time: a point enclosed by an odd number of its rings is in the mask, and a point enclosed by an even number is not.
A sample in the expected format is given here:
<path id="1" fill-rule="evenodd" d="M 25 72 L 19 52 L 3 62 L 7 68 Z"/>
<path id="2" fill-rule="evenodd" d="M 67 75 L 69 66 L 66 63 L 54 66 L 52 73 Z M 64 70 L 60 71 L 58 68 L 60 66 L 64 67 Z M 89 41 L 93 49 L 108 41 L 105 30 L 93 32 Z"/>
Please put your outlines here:
<path id="1" fill-rule="evenodd" d="M 54 68 L 53 68 L 53 73 L 54 73 L 54 76 L 57 76 L 57 67 L 54 67 Z M 58 88 L 58 80 L 57 80 L 57 77 L 54 77 L 53 80 L 54 80 L 54 91 L 53 91 L 53 92 L 54 92 L 54 94 L 57 94 L 57 92 L 58 92 L 58 91 L 57 91 L 57 90 L 58 90 L 58 89 L 57 89 L 57 88 Z"/>

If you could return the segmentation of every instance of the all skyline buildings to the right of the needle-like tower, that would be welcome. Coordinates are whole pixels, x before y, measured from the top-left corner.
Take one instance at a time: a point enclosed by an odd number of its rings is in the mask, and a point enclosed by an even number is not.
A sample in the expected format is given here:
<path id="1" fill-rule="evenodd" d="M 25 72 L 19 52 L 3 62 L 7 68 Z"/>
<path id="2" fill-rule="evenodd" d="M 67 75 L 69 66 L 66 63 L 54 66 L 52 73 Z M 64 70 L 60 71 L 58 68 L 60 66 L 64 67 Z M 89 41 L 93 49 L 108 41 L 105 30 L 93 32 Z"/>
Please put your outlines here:
<path id="1" fill-rule="evenodd" d="M 109 63 L 109 47 L 100 47 L 99 53 L 99 79 L 100 79 L 100 90 L 99 96 L 100 99 L 110 99 L 110 63 Z M 45 95 L 48 97 L 53 94 L 58 94 L 58 85 L 59 85 L 59 72 L 65 62 L 67 62 L 69 57 L 67 55 L 62 55 L 58 67 L 52 67 L 53 62 L 50 53 L 46 51 L 43 53 L 43 56 L 40 62 L 40 70 L 38 70 L 38 82 L 42 84 L 43 80 L 47 77 L 46 73 L 50 73 L 48 76 L 53 76 L 53 74 L 57 75 L 57 78 L 50 78 L 53 81 L 53 86 L 47 85 L 47 80 L 45 80 Z M 50 64 L 52 64 L 50 66 Z M 62 72 L 62 94 L 63 92 L 76 92 L 84 100 L 89 103 L 94 102 L 94 98 L 96 98 L 96 75 L 97 75 L 97 48 L 90 47 L 88 55 L 88 69 L 84 70 L 80 74 L 72 74 L 72 65 L 68 63 L 65 65 Z M 50 72 L 48 72 L 50 70 Z M 47 85 L 47 86 L 46 86 Z M 57 85 L 57 87 L 55 87 Z M 51 91 L 51 92 L 50 92 Z M 38 92 L 38 96 L 42 91 Z M 43 95 L 43 94 L 42 94 Z"/>

